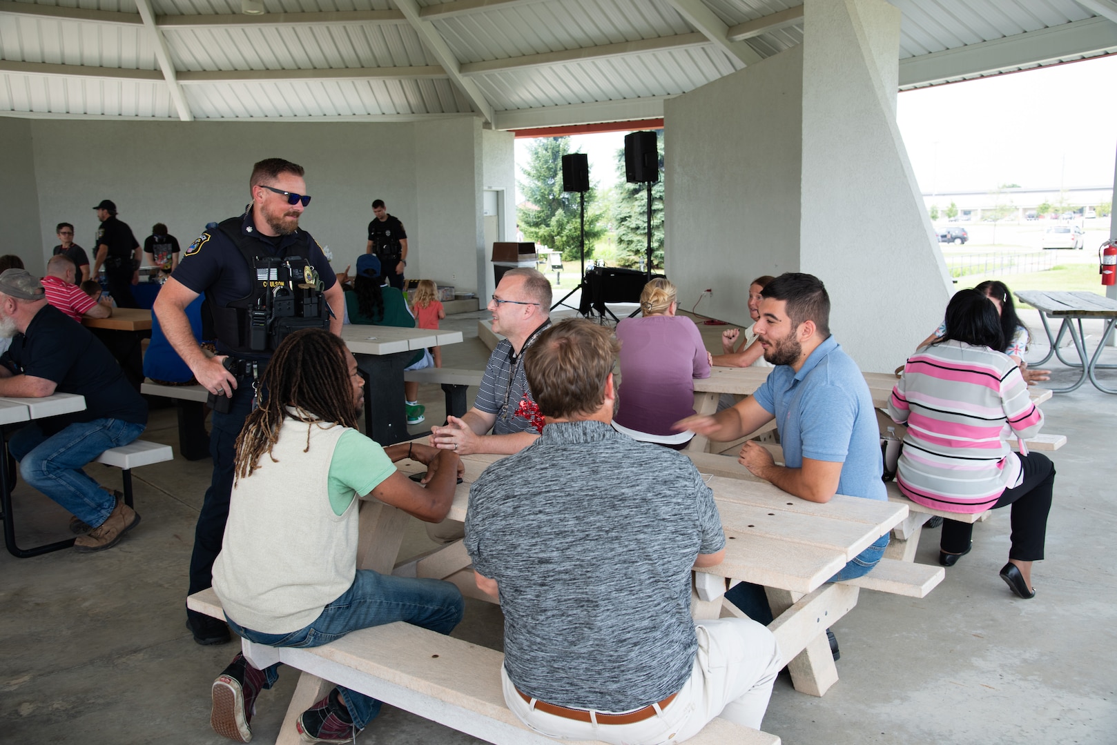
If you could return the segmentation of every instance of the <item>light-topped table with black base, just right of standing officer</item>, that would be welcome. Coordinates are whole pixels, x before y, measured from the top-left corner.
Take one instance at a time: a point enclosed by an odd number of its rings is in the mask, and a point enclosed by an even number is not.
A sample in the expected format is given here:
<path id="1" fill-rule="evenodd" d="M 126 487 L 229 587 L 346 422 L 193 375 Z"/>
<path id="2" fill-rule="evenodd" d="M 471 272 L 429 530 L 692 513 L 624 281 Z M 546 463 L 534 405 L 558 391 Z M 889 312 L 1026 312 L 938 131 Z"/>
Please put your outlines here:
<path id="1" fill-rule="evenodd" d="M 382 446 L 408 439 L 407 412 L 403 404 L 403 369 L 414 353 L 428 346 L 457 344 L 459 331 L 402 328 L 346 324 L 342 341 L 356 355 L 357 369 L 364 378 L 365 432 Z"/>

